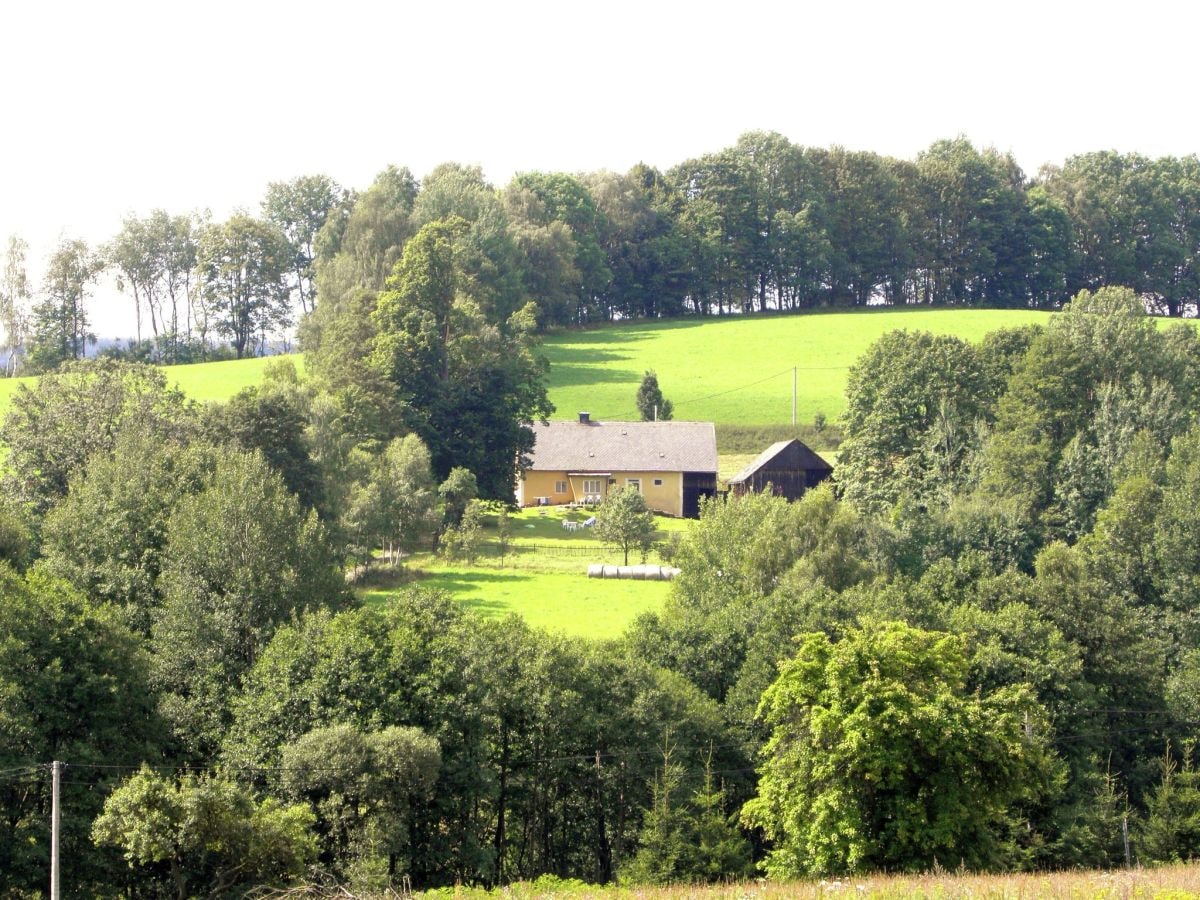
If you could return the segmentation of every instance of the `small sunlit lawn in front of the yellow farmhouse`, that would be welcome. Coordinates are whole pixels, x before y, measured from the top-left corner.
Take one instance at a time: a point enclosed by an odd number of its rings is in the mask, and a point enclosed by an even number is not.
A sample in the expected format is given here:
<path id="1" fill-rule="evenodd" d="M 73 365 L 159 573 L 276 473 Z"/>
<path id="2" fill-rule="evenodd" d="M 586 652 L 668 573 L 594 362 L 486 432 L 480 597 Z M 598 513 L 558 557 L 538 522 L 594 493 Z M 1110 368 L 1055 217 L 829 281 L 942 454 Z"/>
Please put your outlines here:
<path id="1" fill-rule="evenodd" d="M 415 554 L 404 560 L 402 571 L 368 580 L 360 596 L 371 604 L 388 602 L 400 588 L 419 583 L 445 590 L 484 616 L 516 613 L 530 625 L 551 631 L 593 640 L 618 637 L 637 616 L 661 607 L 670 584 L 587 577 L 589 563 L 624 562 L 590 530 L 563 528 L 564 518 L 581 522 L 588 515 L 565 508 L 518 511 L 512 516 L 512 546 L 503 559 L 494 544 L 494 517 L 488 517 L 484 528 L 486 545 L 474 565 Z M 666 534 L 688 523 L 659 517 L 658 526 Z M 630 558 L 630 563 L 636 562 Z M 648 562 L 660 560 L 652 553 Z"/>

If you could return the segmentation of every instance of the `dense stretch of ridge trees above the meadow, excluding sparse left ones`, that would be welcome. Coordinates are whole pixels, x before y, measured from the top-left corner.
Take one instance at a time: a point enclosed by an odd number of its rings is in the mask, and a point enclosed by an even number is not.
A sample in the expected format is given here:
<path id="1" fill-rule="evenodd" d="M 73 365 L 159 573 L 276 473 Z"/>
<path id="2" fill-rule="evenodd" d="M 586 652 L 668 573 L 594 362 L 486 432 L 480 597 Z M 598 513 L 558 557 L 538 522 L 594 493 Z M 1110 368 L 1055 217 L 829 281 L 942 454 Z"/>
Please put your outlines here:
<path id="1" fill-rule="evenodd" d="M 1056 308 L 1129 284 L 1180 316 L 1200 296 L 1200 162 L 1088 154 L 1027 178 L 942 140 L 916 161 L 751 132 L 667 172 L 522 174 L 505 188 L 446 164 L 383 173 L 318 241 L 318 295 L 377 289 L 433 217 L 468 224 L 481 308 L 539 324 L 816 306 Z"/>

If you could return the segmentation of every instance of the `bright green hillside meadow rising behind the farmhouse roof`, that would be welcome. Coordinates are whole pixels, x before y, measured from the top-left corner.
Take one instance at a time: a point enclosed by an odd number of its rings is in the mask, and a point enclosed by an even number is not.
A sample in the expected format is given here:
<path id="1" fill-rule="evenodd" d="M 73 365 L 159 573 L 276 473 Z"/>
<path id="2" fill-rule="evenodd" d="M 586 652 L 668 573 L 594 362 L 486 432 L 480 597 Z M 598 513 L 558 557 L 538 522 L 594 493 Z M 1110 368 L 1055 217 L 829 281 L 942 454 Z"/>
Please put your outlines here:
<path id="1" fill-rule="evenodd" d="M 989 331 L 1050 313 L 1027 310 L 868 310 L 805 316 L 641 322 L 550 335 L 550 398 L 556 419 L 636 419 L 634 397 L 653 368 L 674 418 L 719 425 L 788 424 L 792 367 L 797 421 L 834 421 L 851 364 L 894 329 L 978 341 Z"/>

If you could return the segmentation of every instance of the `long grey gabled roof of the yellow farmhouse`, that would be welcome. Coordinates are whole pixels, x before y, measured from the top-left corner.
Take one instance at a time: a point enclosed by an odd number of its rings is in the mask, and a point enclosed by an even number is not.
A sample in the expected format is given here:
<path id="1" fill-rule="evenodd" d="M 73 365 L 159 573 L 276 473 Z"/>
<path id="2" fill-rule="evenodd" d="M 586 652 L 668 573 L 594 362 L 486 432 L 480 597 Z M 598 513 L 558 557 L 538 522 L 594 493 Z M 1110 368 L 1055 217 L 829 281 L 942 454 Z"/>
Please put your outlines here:
<path id="1" fill-rule="evenodd" d="M 712 422 L 534 422 L 533 433 L 533 470 L 716 472 Z"/>

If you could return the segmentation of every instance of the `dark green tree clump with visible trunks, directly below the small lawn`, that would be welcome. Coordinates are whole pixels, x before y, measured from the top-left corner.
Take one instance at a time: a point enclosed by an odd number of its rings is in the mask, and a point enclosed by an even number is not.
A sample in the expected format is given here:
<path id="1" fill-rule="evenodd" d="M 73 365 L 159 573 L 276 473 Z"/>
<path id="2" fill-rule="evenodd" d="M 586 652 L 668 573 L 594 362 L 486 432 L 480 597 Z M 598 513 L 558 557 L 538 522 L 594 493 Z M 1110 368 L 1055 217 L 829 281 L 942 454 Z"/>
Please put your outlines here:
<path id="1" fill-rule="evenodd" d="M 720 710 L 678 676 L 416 592 L 280 629 L 235 706 L 234 764 L 276 766 L 283 744 L 331 725 L 436 738 L 437 786 L 409 808 L 406 851 L 426 884 L 611 878 L 648 802 L 643 750 L 667 730 L 684 763 L 712 744 L 714 768 L 744 767 Z"/>

